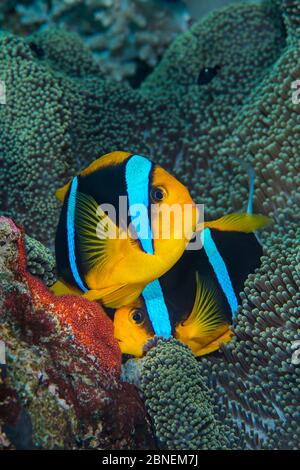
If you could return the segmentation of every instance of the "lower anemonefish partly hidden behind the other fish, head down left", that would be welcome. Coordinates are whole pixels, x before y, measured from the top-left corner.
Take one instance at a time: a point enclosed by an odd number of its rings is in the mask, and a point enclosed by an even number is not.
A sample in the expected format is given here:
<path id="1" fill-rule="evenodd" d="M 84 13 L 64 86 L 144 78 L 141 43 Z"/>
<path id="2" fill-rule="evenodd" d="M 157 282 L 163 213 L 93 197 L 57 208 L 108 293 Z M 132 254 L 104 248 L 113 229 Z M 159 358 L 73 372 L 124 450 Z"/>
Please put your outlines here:
<path id="1" fill-rule="evenodd" d="M 114 315 L 114 334 L 123 353 L 140 357 L 154 336 L 174 336 L 196 356 L 231 340 L 229 329 L 239 293 L 260 265 L 262 248 L 254 233 L 268 217 L 231 214 L 207 222 L 202 248 L 186 250 L 175 266 Z"/>

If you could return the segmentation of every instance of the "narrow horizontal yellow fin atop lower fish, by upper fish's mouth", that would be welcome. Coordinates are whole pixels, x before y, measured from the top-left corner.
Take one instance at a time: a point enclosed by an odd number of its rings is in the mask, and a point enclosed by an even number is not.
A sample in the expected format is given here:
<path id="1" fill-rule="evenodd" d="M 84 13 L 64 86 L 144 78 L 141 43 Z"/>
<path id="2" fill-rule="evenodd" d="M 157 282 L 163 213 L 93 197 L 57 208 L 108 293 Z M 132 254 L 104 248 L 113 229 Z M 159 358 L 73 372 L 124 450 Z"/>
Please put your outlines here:
<path id="1" fill-rule="evenodd" d="M 273 220 L 262 214 L 233 213 L 220 219 L 204 222 L 204 228 L 213 228 L 223 232 L 251 233 L 271 224 Z M 203 228 L 203 227 L 202 227 Z"/>

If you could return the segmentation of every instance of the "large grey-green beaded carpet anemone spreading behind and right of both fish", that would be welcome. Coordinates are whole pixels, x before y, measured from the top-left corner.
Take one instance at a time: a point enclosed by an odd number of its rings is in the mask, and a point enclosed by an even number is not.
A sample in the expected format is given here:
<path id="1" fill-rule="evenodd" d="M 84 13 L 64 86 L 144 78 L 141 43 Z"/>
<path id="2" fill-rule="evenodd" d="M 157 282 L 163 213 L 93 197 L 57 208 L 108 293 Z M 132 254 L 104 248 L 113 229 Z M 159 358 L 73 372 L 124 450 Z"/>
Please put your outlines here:
<path id="1" fill-rule="evenodd" d="M 255 169 L 254 210 L 274 224 L 260 235 L 265 254 L 242 294 L 236 338 L 199 362 L 221 416 L 250 449 L 299 442 L 299 7 L 278 0 L 213 12 L 175 40 L 139 90 L 105 81 L 64 33 L 0 38 L 2 210 L 49 247 L 54 190 L 103 153 L 164 164 L 205 202 L 207 218 L 242 210 L 240 162 Z M 69 51 L 81 60 L 62 63 Z"/>

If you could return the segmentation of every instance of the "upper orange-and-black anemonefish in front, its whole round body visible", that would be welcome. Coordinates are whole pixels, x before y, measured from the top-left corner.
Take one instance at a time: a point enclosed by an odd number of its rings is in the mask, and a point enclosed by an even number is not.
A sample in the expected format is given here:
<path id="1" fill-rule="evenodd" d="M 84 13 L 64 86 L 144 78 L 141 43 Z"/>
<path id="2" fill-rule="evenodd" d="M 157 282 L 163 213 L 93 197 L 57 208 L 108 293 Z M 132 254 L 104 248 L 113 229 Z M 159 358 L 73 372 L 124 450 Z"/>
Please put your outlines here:
<path id="1" fill-rule="evenodd" d="M 59 281 L 52 290 L 57 295 L 83 295 L 107 307 L 135 301 L 146 285 L 167 272 L 181 257 L 198 221 L 185 186 L 148 158 L 127 152 L 97 159 L 56 196 L 63 206 L 55 240 Z M 128 201 L 125 216 L 120 196 Z M 103 204 L 115 208 L 115 220 Z M 159 222 L 173 204 L 187 214 L 183 220 L 190 220 L 190 226 L 183 230 L 170 217 L 166 237 Z M 138 205 L 146 208 L 142 228 L 134 211 Z M 151 205 L 161 212 L 152 213 Z"/>

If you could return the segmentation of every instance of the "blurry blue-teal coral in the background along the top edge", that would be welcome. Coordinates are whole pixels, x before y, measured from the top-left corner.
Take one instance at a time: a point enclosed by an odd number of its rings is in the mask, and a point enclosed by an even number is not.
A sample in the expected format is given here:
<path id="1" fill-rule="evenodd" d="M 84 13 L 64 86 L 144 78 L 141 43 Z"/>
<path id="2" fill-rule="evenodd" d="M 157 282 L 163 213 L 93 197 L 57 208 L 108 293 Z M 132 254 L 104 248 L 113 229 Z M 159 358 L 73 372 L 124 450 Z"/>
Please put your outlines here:
<path id="1" fill-rule="evenodd" d="M 0 24 L 13 32 L 59 28 L 77 33 L 103 74 L 115 80 L 132 76 L 139 80 L 157 64 L 172 39 L 187 29 L 189 19 L 181 1 L 20 0 L 4 2 Z"/>

